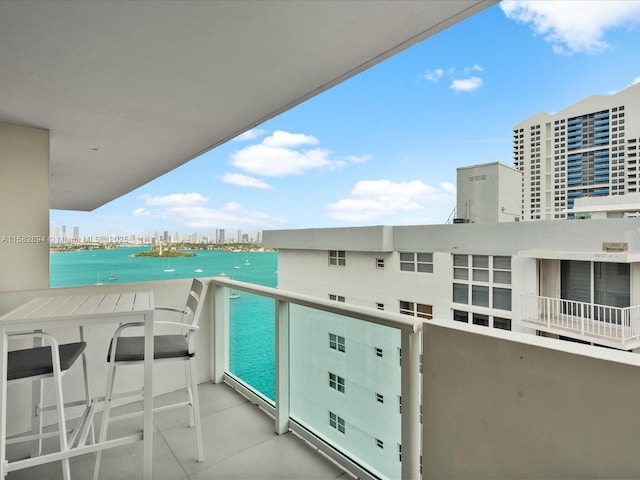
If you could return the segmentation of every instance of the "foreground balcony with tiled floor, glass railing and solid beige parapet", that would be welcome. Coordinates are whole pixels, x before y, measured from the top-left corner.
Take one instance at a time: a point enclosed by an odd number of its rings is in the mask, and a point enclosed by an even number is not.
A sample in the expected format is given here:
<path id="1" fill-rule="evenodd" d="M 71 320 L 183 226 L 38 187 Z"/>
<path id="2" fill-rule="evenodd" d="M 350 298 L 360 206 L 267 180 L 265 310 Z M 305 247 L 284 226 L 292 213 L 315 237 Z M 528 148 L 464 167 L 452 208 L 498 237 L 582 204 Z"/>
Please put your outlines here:
<path id="1" fill-rule="evenodd" d="M 151 289 L 160 299 L 180 298 L 183 286 L 60 290 Z M 231 291 L 240 297 L 230 299 Z M 0 311 L 33 295 L 0 294 Z M 633 442 L 601 448 L 640 430 L 633 415 L 640 399 L 637 355 L 423 321 L 222 277 L 209 279 L 208 300 L 197 357 L 206 459 L 195 461 L 181 412 L 159 414 L 154 478 L 633 478 L 640 471 Z M 268 313 L 239 315 L 259 311 L 261 302 Z M 612 327 L 626 325 L 614 325 L 613 310 L 599 315 L 608 315 Z M 272 362 L 234 357 L 247 346 L 254 353 L 264 348 L 255 343 L 259 336 L 271 344 Z M 89 338 L 107 337 L 94 331 Z M 99 361 L 101 352 L 90 357 L 98 384 Z M 244 378 L 258 367 L 264 370 L 257 377 Z M 342 391 L 332 385 L 332 371 L 343 376 L 334 383 Z M 175 395 L 169 377 L 163 372 L 156 382 L 166 390 L 157 404 Z M 267 381 L 256 385 L 256 378 Z M 71 379 L 67 386 L 74 386 Z M 331 424 L 330 412 L 342 418 L 334 424 L 342 429 Z M 114 433 L 137 428 L 115 425 Z M 108 451 L 102 471 L 109 474 L 101 478 L 140 478 L 140 452 L 141 444 Z M 92 455 L 74 458 L 74 478 L 88 478 L 92 466 Z M 58 470 L 52 464 L 8 478 L 56 479 Z"/>

